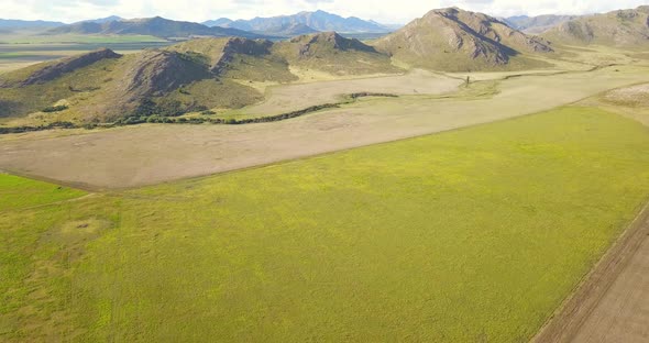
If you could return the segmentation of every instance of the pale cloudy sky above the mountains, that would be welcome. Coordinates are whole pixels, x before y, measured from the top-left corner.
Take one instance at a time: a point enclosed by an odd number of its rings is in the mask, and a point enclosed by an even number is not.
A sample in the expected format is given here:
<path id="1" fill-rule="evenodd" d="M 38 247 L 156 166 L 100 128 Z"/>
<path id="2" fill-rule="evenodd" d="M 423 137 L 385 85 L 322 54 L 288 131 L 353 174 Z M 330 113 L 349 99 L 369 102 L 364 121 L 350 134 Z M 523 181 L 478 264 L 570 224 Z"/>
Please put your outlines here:
<path id="1" fill-rule="evenodd" d="M 251 19 L 323 10 L 386 24 L 403 24 L 446 7 L 496 16 L 587 14 L 649 4 L 649 0 L 0 0 L 0 18 L 76 22 L 119 15 L 164 16 L 202 22 L 230 18 Z"/>

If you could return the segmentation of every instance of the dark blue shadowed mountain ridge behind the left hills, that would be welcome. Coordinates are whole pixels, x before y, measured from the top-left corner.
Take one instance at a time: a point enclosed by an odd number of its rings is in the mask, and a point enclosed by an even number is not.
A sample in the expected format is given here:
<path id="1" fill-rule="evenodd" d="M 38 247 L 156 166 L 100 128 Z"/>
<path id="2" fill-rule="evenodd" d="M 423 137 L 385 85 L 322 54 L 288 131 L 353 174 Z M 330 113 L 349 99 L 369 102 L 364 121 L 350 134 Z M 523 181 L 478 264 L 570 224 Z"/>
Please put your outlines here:
<path id="1" fill-rule="evenodd" d="M 85 21 L 55 27 L 45 32 L 45 34 L 143 34 L 163 38 L 169 37 L 190 37 L 190 36 L 239 36 L 249 38 L 260 38 L 263 35 L 250 33 L 237 29 L 223 29 L 219 26 L 208 27 L 206 25 L 173 21 L 160 16 L 132 19 L 132 20 L 113 20 L 107 22 Z"/>

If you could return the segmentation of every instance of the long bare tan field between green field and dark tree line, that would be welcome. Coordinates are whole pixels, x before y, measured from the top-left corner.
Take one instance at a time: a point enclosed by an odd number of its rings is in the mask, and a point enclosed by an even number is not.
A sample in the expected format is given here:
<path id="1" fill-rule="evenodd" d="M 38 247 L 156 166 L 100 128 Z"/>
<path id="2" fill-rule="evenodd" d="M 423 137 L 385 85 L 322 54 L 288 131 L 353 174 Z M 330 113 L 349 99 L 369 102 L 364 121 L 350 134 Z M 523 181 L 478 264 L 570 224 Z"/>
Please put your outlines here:
<path id="1" fill-rule="evenodd" d="M 0 169 L 90 189 L 132 188 L 530 114 L 647 79 L 644 68 L 618 70 L 525 76 L 499 81 L 493 97 L 373 99 L 264 124 L 22 134 L 2 141 Z"/>

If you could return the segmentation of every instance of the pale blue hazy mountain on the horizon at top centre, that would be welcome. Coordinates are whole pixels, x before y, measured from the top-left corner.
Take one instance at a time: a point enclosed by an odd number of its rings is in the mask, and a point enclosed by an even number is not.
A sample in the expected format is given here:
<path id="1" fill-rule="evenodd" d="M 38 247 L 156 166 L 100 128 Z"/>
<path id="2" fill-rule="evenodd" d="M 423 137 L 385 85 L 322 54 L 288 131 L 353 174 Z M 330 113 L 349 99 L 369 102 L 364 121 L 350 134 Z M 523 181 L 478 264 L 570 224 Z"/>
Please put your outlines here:
<path id="1" fill-rule="evenodd" d="M 293 15 L 280 15 L 272 18 L 255 18 L 251 20 L 219 19 L 217 21 L 206 22 L 209 25 L 219 25 L 223 27 L 234 27 L 244 31 L 266 33 L 273 32 L 277 27 L 292 24 L 304 24 L 315 31 L 336 31 L 342 33 L 361 33 L 361 32 L 389 32 L 385 27 L 373 21 L 365 21 L 355 16 L 342 18 L 324 11 L 300 12 Z"/>

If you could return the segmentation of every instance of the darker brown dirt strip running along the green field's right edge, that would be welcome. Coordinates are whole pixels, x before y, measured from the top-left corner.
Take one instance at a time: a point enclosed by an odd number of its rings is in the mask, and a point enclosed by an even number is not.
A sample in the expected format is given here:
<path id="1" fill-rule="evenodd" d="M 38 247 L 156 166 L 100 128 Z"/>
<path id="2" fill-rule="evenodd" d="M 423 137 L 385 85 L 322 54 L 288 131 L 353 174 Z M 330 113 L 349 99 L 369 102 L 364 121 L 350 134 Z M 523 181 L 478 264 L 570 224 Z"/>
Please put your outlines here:
<path id="1" fill-rule="evenodd" d="M 573 292 L 532 338 L 534 343 L 572 342 L 622 272 L 649 239 L 649 200 Z"/>

